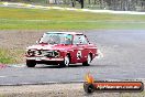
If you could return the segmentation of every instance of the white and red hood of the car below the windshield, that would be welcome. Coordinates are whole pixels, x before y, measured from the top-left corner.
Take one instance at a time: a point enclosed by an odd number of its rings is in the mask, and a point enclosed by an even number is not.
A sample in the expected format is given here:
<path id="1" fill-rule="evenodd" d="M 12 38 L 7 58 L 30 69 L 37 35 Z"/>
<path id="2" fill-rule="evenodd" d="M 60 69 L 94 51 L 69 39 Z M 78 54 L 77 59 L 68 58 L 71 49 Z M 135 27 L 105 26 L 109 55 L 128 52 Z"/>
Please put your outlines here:
<path id="1" fill-rule="evenodd" d="M 65 44 L 37 44 L 26 47 L 26 50 L 68 50 L 71 45 L 65 45 Z"/>

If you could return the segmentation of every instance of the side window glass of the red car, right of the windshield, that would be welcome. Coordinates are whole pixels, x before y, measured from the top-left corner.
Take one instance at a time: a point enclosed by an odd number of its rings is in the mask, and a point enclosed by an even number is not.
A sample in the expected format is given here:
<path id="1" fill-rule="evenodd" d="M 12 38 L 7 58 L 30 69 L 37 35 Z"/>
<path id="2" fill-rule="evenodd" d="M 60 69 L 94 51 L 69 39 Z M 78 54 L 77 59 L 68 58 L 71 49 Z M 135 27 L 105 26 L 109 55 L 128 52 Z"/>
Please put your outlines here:
<path id="1" fill-rule="evenodd" d="M 75 35 L 74 44 L 88 44 L 88 41 L 85 35 Z"/>

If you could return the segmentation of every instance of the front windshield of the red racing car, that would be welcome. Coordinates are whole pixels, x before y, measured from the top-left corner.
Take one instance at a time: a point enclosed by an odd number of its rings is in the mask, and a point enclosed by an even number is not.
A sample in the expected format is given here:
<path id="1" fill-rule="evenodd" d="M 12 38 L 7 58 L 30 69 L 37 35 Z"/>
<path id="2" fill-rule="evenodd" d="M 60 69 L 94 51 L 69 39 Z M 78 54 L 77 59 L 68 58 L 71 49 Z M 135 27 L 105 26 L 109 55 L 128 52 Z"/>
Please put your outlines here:
<path id="1" fill-rule="evenodd" d="M 71 44 L 72 35 L 64 33 L 45 33 L 40 43 Z"/>

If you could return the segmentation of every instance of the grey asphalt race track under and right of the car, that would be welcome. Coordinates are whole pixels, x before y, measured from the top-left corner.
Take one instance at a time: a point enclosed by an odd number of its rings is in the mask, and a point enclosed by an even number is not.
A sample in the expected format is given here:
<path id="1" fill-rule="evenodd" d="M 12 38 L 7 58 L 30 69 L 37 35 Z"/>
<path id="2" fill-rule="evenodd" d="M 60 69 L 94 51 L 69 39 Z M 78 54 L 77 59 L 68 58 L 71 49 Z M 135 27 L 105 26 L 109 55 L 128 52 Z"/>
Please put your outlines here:
<path id="1" fill-rule="evenodd" d="M 88 72 L 99 80 L 145 78 L 145 30 L 94 30 L 85 34 L 102 53 L 91 66 L 12 65 L 0 69 L 0 85 L 82 82 Z"/>

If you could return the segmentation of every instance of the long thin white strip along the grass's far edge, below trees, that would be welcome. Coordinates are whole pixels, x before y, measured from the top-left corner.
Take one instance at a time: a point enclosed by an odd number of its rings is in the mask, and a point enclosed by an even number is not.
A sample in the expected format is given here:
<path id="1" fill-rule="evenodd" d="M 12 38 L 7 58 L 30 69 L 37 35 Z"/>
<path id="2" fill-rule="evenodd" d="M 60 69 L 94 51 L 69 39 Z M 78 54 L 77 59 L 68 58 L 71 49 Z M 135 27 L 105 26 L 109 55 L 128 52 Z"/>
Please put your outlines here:
<path id="1" fill-rule="evenodd" d="M 56 10 L 69 10 L 69 11 L 79 11 L 79 12 L 93 12 L 93 13 L 114 13 L 114 14 L 145 14 L 145 12 L 135 12 L 135 11 L 111 11 L 111 10 L 89 10 L 89 9 L 74 9 L 74 8 L 62 8 L 62 7 L 43 7 L 34 6 L 26 3 L 13 3 L 13 2 L 1 2 L 0 4 L 4 7 L 20 7 L 20 8 L 30 8 L 30 9 L 56 9 Z"/>

